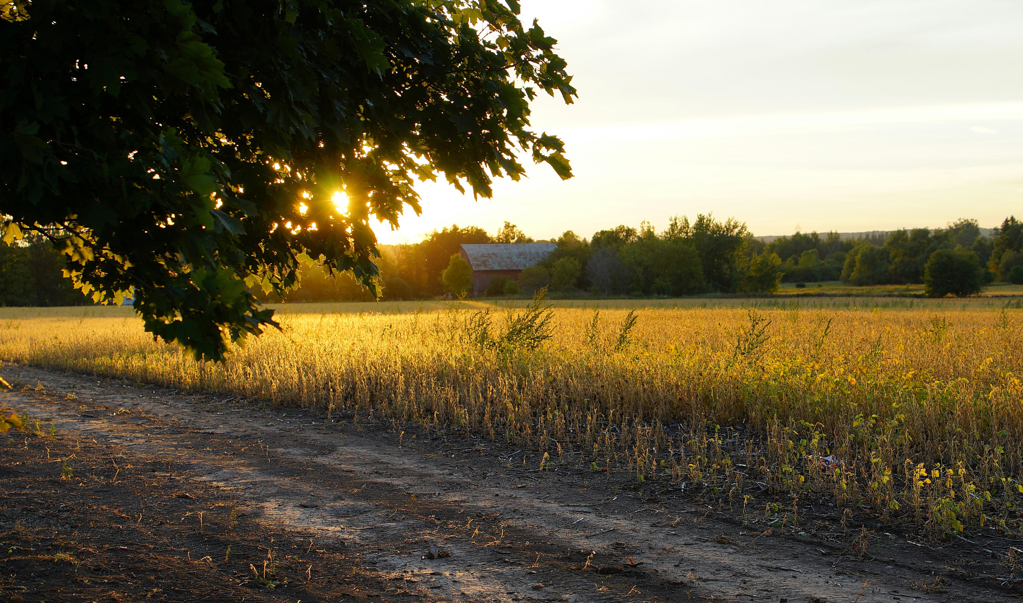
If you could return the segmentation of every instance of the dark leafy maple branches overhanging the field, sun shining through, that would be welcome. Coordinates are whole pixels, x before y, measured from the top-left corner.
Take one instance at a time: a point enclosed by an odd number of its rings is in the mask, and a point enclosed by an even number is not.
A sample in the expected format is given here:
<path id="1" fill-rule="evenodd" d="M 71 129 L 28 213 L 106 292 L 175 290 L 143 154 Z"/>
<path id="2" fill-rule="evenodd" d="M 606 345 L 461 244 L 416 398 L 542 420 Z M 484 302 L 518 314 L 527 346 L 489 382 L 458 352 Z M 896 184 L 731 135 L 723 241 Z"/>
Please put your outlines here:
<path id="1" fill-rule="evenodd" d="M 515 0 L 33 0 L 0 10 L 0 216 L 40 232 L 97 302 L 196 357 L 275 326 L 319 259 L 370 288 L 370 219 L 418 212 L 443 176 L 492 193 L 538 91 L 576 95 L 555 40 Z M 464 183 L 464 184 L 463 184 Z"/>

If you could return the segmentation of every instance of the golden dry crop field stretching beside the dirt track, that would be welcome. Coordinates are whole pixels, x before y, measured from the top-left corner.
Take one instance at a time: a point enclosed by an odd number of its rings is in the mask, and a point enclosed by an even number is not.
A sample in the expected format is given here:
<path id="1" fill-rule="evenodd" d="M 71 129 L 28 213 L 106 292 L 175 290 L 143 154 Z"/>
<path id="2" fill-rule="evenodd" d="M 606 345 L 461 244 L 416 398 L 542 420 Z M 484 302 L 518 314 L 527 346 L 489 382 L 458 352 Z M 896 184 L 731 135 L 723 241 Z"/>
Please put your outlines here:
<path id="1" fill-rule="evenodd" d="M 780 517 L 751 484 L 934 536 L 1019 523 L 1019 300 L 525 305 L 290 305 L 223 365 L 129 309 L 0 309 L 0 359 L 482 434 Z"/>

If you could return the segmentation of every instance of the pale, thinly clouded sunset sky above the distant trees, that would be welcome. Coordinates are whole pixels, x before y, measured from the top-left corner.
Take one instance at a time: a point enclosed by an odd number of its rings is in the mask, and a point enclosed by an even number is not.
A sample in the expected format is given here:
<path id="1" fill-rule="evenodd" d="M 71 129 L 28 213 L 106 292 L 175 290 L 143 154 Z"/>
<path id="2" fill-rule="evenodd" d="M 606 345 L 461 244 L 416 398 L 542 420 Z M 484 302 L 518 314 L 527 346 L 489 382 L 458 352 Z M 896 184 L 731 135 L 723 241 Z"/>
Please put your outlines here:
<path id="1" fill-rule="evenodd" d="M 527 164 L 474 200 L 418 187 L 413 242 L 451 224 L 593 232 L 713 213 L 757 235 L 985 228 L 1023 216 L 1019 0 L 524 0 L 575 76 L 533 126 L 575 177 Z"/>

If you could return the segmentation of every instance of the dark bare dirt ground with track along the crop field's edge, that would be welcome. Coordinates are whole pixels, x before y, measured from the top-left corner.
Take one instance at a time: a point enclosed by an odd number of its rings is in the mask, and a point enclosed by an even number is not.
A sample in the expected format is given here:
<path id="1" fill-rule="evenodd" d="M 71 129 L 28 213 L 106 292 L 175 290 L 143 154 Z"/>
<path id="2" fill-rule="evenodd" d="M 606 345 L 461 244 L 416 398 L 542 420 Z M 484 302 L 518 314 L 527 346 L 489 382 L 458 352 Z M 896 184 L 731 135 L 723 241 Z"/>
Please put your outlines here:
<path id="1" fill-rule="evenodd" d="M 1016 542 L 751 524 L 385 422 L 5 366 L 0 600 L 1007 601 Z M 52 424 L 52 432 L 51 432 Z M 788 504 L 788 502 L 786 502 Z M 819 518 L 814 519 L 814 513 Z M 760 527 L 758 527 L 758 525 Z M 436 547 L 438 558 L 432 555 Z"/>

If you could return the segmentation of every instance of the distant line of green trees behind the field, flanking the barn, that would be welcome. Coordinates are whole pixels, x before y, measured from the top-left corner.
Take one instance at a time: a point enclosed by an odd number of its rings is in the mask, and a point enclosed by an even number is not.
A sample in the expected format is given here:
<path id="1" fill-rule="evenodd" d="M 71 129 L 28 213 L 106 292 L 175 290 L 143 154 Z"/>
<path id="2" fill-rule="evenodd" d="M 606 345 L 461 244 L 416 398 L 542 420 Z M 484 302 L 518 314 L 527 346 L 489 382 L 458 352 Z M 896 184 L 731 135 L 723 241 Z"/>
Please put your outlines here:
<path id="1" fill-rule="evenodd" d="M 381 245 L 385 299 L 432 298 L 450 292 L 442 274 L 466 243 L 524 243 L 533 239 L 507 222 L 493 235 L 482 228 L 452 226 L 424 240 Z M 711 215 L 673 218 L 657 232 L 618 226 L 586 239 L 572 231 L 539 265 L 514 283 L 494 279 L 489 295 L 530 293 L 543 286 L 565 295 L 693 295 L 768 293 L 780 282 L 841 280 L 852 285 L 925 283 L 928 293 L 971 294 L 991 281 L 1023 284 L 1023 223 L 1007 218 L 990 237 L 976 220 L 944 229 L 899 230 L 886 237 L 842 239 L 797 232 L 763 242 L 745 223 Z M 62 278 L 63 258 L 41 238 L 0 244 L 0 306 L 71 306 L 90 303 Z M 262 295 L 264 302 L 279 302 Z M 349 274 L 330 278 L 304 271 L 302 286 L 284 300 L 343 302 L 373 297 Z"/>

